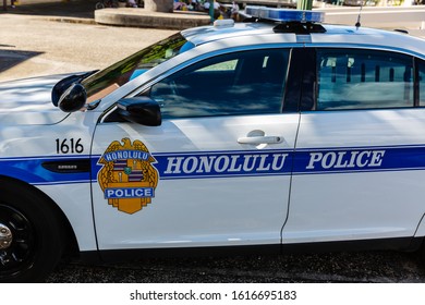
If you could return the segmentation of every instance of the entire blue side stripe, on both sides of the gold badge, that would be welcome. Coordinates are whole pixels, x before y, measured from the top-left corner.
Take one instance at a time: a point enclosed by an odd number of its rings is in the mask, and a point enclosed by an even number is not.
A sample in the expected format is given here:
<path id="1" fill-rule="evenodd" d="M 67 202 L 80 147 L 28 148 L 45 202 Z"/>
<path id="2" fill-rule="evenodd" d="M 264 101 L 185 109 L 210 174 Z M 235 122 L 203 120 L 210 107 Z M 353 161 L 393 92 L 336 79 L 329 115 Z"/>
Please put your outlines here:
<path id="1" fill-rule="evenodd" d="M 36 185 L 89 183 L 90 179 L 96 182 L 101 169 L 97 163 L 100 157 L 1 158 L 0 174 Z M 153 157 L 161 180 L 425 170 L 425 145 L 160 152 Z M 93 178 L 89 172 L 56 173 L 41 166 L 88 158 Z"/>

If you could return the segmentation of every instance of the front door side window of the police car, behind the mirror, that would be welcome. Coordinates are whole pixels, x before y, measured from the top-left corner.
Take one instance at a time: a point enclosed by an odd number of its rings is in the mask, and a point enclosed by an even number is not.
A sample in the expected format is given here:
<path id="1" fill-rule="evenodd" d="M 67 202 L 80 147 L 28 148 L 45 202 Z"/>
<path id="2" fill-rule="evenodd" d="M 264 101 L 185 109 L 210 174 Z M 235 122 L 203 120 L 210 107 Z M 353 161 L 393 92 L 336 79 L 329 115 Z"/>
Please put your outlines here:
<path id="1" fill-rule="evenodd" d="M 280 113 L 289 50 L 217 56 L 179 71 L 150 88 L 163 119 Z"/>

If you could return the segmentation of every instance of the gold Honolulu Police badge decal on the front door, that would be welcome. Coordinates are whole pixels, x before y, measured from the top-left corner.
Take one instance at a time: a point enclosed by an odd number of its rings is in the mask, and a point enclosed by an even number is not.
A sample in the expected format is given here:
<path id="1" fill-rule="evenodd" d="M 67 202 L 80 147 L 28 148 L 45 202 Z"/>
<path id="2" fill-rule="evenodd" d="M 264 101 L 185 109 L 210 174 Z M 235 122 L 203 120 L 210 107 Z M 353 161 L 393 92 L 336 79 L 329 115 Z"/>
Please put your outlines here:
<path id="1" fill-rule="evenodd" d="M 158 184 L 158 171 L 153 166 L 155 158 L 138 139 L 112 142 L 98 163 L 100 188 L 108 204 L 118 210 L 134 213 L 150 204 Z"/>

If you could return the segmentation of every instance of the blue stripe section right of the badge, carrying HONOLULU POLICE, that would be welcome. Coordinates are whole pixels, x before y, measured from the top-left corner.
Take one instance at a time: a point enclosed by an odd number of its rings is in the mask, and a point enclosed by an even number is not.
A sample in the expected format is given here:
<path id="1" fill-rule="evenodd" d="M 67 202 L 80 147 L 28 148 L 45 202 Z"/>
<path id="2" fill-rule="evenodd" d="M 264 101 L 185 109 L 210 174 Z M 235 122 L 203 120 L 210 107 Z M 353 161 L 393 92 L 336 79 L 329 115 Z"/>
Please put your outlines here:
<path id="1" fill-rule="evenodd" d="M 270 158 L 274 154 L 286 154 L 286 161 L 282 168 L 274 170 Z M 224 157 L 222 157 L 224 156 Z M 195 159 L 204 158 L 209 160 L 214 157 L 231 159 L 236 158 L 233 167 L 220 171 L 212 166 L 208 171 L 205 167 L 194 169 Z M 265 158 L 263 170 L 231 171 L 243 164 L 247 156 L 259 156 Z M 266 156 L 266 157 L 263 157 Z M 338 148 L 302 148 L 292 150 L 253 150 L 253 151 L 207 151 L 207 152 L 175 152 L 154 155 L 158 163 L 155 167 L 159 171 L 160 179 L 199 179 L 199 178 L 230 178 L 230 176 L 262 176 L 262 175 L 288 175 L 288 174 L 328 174 L 328 173 L 355 173 L 355 172 L 385 172 L 385 171 L 410 171 L 425 169 L 425 146 L 371 146 L 371 147 L 338 147 Z M 191 161 L 187 161 L 191 158 Z M 272 159 L 272 158 L 271 158 Z M 251 159 L 252 160 L 252 159 Z M 186 168 L 183 167 L 186 162 Z M 171 163 L 171 167 L 170 167 Z"/>

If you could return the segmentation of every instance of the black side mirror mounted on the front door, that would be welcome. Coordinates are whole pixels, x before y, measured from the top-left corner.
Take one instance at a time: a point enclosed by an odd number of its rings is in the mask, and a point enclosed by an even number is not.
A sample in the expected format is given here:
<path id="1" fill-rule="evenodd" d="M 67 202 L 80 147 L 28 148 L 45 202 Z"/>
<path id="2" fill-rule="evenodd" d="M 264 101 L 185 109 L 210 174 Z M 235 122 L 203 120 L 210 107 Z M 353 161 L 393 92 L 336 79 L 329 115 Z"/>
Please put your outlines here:
<path id="1" fill-rule="evenodd" d="M 146 125 L 161 125 L 161 110 L 149 97 L 124 98 L 118 101 L 118 114 L 126 121 Z"/>

